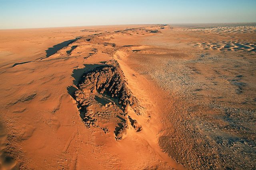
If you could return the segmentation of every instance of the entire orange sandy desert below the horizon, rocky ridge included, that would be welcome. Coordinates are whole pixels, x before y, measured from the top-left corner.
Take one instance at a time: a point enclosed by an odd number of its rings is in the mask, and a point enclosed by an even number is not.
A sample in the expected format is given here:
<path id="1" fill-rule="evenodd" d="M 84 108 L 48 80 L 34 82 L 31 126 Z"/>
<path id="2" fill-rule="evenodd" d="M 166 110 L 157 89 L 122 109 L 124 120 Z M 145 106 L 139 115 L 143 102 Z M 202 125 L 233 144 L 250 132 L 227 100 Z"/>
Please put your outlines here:
<path id="1" fill-rule="evenodd" d="M 0 30 L 0 169 L 256 169 L 256 24 Z"/>

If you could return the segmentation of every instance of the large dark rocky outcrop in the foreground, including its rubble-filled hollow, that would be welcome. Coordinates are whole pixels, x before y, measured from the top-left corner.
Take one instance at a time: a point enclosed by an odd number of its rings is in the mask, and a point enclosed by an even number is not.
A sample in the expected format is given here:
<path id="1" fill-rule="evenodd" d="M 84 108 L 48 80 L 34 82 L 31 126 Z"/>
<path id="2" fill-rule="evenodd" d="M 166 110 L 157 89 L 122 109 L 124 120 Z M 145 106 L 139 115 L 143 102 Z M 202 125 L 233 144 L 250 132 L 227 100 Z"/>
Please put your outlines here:
<path id="1" fill-rule="evenodd" d="M 141 115 L 142 107 L 128 88 L 124 74 L 115 62 L 85 72 L 75 92 L 75 99 L 82 121 L 87 127 L 95 125 L 106 129 L 101 127 L 103 119 L 108 123 L 112 121 L 118 124 L 114 130 L 116 140 L 127 134 L 129 107 L 137 115 Z M 108 126 L 107 123 L 105 125 Z"/>

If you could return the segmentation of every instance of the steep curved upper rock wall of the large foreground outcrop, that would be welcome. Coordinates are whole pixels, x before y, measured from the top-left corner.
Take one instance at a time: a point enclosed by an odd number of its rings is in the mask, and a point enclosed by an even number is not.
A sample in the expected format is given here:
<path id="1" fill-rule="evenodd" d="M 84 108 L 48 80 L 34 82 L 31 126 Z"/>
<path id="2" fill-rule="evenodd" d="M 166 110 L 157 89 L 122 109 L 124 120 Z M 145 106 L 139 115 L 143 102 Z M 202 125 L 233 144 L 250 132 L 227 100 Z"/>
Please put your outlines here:
<path id="1" fill-rule="evenodd" d="M 118 105 L 127 113 L 130 106 L 136 114 L 140 114 L 140 105 L 127 87 L 127 82 L 119 66 L 104 65 L 83 75 L 76 91 L 76 100 L 81 103 L 84 96 L 98 92 L 118 99 Z"/>

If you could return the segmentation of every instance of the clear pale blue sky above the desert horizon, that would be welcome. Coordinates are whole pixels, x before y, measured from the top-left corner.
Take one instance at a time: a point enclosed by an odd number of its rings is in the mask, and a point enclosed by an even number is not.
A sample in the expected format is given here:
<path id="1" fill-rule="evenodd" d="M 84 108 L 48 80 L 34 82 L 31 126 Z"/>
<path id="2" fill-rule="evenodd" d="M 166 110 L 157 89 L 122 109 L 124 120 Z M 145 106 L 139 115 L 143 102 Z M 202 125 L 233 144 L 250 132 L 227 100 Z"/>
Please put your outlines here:
<path id="1" fill-rule="evenodd" d="M 0 0 L 0 29 L 256 22 L 256 0 Z"/>

